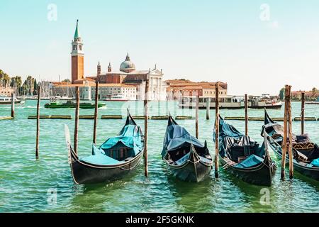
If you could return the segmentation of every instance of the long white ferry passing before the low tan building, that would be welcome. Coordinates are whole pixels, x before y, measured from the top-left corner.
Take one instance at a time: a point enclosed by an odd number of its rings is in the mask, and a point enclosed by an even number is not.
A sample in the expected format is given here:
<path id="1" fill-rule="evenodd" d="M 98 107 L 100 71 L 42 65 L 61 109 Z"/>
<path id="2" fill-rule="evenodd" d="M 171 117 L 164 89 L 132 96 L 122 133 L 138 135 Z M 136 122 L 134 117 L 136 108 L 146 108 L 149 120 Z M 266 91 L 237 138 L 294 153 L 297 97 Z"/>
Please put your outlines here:
<path id="1" fill-rule="evenodd" d="M 183 96 L 179 100 L 179 108 L 196 109 L 196 96 Z M 198 109 L 206 109 L 207 99 L 210 99 L 210 109 L 215 109 L 215 98 L 200 96 L 198 100 Z M 236 96 L 223 96 L 219 98 L 219 109 L 243 109 L 245 103 L 237 99 Z"/>

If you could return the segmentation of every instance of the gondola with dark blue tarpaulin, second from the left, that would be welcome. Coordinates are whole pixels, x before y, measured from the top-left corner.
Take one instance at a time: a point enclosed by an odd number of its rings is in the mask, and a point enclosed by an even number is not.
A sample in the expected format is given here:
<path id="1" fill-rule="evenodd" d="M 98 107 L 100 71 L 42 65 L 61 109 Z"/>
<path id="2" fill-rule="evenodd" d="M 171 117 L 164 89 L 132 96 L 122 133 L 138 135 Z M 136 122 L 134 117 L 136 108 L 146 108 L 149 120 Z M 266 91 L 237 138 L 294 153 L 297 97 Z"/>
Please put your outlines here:
<path id="1" fill-rule="evenodd" d="M 177 179 L 201 182 L 211 173 L 213 160 L 207 143 L 201 143 L 169 116 L 162 159 Z"/>

